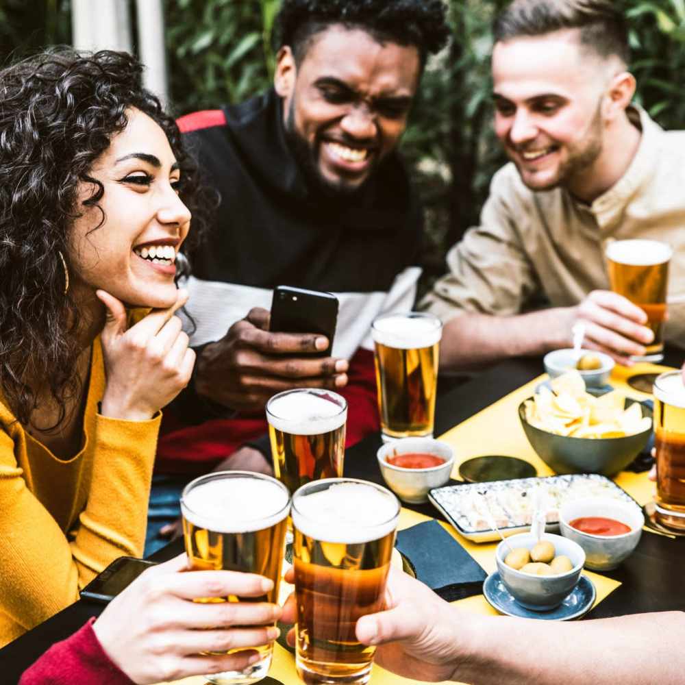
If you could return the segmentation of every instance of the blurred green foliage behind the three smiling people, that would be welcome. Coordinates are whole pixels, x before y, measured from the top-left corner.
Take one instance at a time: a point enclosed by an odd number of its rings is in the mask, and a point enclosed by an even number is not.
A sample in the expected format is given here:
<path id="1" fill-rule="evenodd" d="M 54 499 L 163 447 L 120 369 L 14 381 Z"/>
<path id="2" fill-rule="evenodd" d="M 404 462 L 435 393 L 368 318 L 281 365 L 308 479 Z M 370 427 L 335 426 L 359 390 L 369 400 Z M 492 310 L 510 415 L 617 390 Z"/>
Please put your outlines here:
<path id="1" fill-rule="evenodd" d="M 508 0 L 445 0 L 455 40 L 423 77 L 402 147 L 426 208 L 428 277 L 477 221 L 503 162 L 490 105 L 490 23 Z M 630 20 L 638 101 L 666 128 L 685 128 L 685 0 L 616 0 Z M 69 42 L 69 0 L 0 0 L 0 61 Z M 177 114 L 237 102 L 267 88 L 279 0 L 164 0 Z"/>

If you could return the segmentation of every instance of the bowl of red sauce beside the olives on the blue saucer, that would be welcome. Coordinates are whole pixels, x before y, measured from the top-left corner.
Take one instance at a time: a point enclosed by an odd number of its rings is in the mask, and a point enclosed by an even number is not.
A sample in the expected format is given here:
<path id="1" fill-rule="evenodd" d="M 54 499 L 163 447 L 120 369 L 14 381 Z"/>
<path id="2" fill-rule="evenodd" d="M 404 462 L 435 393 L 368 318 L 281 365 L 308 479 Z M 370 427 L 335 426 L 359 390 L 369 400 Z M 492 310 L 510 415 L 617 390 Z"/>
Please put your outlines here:
<path id="1" fill-rule="evenodd" d="M 561 534 L 585 551 L 585 567 L 610 571 L 630 556 L 642 535 L 645 516 L 635 502 L 607 497 L 571 500 L 559 511 Z"/>

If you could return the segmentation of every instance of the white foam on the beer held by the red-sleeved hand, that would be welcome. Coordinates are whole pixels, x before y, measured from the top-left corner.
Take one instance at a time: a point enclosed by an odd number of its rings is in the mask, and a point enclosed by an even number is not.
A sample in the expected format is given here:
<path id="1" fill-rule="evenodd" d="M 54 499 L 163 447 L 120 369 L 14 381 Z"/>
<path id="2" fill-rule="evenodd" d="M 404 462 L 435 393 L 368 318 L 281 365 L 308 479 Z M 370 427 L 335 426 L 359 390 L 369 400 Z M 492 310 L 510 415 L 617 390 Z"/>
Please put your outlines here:
<path id="1" fill-rule="evenodd" d="M 261 478 L 208 480 L 181 500 L 184 518 L 216 533 L 249 533 L 275 525 L 288 515 L 288 493 Z"/>

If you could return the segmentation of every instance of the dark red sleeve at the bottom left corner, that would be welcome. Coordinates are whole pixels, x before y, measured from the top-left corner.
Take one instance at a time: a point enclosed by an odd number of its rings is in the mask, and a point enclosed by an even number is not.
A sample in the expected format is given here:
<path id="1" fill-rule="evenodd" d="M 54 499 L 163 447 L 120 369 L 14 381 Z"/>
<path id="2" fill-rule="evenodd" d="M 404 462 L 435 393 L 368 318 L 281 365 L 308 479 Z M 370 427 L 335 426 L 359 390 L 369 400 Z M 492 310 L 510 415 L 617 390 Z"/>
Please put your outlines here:
<path id="1" fill-rule="evenodd" d="M 134 685 L 102 649 L 90 619 L 71 637 L 55 643 L 29 669 L 19 685 Z"/>

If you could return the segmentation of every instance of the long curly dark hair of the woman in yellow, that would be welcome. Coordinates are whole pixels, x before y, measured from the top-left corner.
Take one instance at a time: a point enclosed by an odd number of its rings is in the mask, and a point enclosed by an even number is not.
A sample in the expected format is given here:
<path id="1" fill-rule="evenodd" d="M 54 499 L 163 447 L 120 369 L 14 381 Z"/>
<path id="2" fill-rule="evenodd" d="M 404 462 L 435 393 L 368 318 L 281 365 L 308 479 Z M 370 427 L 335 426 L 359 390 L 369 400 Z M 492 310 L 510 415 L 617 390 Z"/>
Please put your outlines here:
<path id="1" fill-rule="evenodd" d="M 77 192 L 94 184 L 99 155 L 127 125 L 126 111 L 145 112 L 164 130 L 182 171 L 179 194 L 197 215 L 195 162 L 160 101 L 140 85 L 142 65 L 127 53 L 58 48 L 0 71 L 0 389 L 29 425 L 36 384 L 60 407 L 81 390 L 75 373 L 78 303 L 64 292 L 69 230 L 79 216 Z M 101 227 L 105 217 L 95 227 Z"/>

